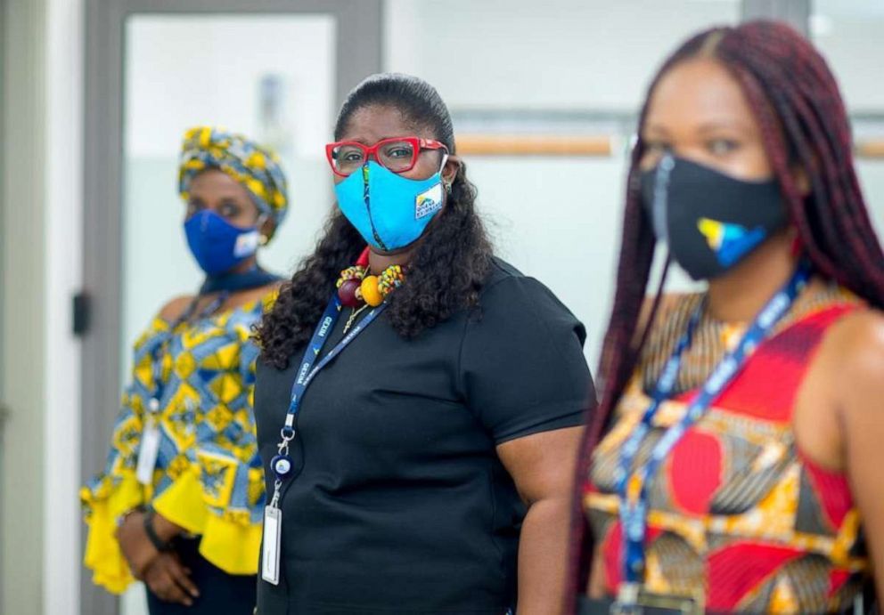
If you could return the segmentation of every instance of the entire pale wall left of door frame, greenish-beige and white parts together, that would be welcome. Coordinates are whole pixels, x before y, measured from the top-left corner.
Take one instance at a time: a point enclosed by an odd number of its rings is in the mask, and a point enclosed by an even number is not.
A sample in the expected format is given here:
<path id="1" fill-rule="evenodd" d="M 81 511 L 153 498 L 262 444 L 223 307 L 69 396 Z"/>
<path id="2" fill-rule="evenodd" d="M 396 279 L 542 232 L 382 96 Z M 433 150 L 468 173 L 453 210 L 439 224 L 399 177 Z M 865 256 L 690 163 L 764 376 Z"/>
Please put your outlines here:
<path id="1" fill-rule="evenodd" d="M 79 589 L 82 4 L 6 0 L 0 611 L 75 613 Z"/>

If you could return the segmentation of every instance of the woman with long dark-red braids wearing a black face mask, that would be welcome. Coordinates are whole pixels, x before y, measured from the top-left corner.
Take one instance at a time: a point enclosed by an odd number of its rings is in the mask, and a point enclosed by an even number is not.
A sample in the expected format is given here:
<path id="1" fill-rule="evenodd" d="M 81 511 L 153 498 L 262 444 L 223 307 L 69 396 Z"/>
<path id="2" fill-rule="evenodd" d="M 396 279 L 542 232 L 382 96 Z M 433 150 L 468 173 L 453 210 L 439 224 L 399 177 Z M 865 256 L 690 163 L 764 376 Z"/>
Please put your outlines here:
<path id="1" fill-rule="evenodd" d="M 708 290 L 640 318 L 655 235 Z M 578 473 L 581 613 L 862 611 L 884 589 L 882 259 L 812 45 L 755 22 L 667 61 Z"/>

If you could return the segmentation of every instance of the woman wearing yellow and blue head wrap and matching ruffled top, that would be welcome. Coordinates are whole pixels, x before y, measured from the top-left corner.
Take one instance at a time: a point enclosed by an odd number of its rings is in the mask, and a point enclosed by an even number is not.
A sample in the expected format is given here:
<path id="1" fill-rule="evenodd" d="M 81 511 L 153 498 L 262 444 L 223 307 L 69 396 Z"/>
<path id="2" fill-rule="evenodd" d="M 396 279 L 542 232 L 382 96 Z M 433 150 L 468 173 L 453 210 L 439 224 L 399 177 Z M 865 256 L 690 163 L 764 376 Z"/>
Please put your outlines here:
<path id="1" fill-rule="evenodd" d="M 179 191 L 206 278 L 135 344 L 107 465 L 82 490 L 85 561 L 114 593 L 143 580 L 151 615 L 246 615 L 264 507 L 250 337 L 279 281 L 257 252 L 286 213 L 286 183 L 271 152 L 204 126 L 184 135 Z"/>

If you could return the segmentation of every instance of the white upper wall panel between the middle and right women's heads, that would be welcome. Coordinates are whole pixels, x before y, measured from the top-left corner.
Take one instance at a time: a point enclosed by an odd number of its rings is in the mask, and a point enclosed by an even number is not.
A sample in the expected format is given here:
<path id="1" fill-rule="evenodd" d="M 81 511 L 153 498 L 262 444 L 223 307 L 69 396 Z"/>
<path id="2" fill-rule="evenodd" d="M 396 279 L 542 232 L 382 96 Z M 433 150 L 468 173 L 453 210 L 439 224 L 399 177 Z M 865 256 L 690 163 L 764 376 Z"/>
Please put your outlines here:
<path id="1" fill-rule="evenodd" d="M 387 1 L 386 66 L 452 109 L 635 109 L 667 51 L 737 0 Z"/>

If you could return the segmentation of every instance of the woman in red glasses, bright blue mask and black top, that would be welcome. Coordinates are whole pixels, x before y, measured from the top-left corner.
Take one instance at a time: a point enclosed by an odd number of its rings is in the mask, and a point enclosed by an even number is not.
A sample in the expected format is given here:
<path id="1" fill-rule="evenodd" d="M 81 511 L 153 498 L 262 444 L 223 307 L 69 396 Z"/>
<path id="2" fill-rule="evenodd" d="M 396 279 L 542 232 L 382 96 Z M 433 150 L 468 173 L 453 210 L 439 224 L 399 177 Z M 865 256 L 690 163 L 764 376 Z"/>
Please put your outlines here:
<path id="1" fill-rule="evenodd" d="M 326 153 L 338 208 L 258 332 L 258 612 L 555 612 L 584 328 L 495 257 L 430 85 L 369 77 Z"/>

